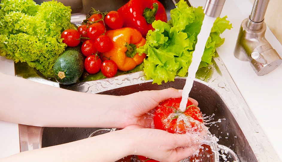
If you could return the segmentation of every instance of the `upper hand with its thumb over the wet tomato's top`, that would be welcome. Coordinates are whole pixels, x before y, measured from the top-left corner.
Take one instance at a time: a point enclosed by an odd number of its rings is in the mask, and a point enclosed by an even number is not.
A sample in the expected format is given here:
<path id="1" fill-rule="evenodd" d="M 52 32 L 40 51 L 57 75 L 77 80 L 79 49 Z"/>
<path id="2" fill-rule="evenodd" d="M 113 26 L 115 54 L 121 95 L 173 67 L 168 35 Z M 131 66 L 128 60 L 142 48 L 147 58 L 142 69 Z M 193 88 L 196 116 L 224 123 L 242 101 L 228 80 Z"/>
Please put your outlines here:
<path id="1" fill-rule="evenodd" d="M 153 128 L 153 110 L 160 102 L 182 96 L 182 90 L 168 88 L 164 90 L 150 90 L 121 96 L 123 103 L 121 106 L 121 128 L 128 125 L 141 125 L 145 128 Z M 195 99 L 189 98 L 194 105 L 198 106 Z"/>

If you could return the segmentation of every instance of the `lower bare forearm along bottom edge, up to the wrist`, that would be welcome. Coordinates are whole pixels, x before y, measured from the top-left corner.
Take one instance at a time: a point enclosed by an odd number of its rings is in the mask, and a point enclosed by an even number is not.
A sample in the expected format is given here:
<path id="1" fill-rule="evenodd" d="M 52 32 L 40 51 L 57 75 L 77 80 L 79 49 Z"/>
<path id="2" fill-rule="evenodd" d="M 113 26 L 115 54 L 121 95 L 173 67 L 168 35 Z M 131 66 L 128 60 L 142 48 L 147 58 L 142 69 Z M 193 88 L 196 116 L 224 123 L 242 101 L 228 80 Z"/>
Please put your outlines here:
<path id="1" fill-rule="evenodd" d="M 131 154 L 131 146 L 126 139 L 128 138 L 125 134 L 110 132 L 71 143 L 21 152 L 0 161 L 114 162 Z"/>

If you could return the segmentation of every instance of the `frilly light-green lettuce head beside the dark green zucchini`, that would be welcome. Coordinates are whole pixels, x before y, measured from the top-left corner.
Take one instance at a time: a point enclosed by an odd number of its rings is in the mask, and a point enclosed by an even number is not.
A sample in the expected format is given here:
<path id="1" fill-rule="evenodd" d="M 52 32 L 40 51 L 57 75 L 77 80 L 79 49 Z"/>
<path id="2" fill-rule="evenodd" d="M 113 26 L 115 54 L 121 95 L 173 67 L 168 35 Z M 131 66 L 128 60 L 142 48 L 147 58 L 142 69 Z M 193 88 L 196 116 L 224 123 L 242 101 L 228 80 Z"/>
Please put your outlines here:
<path id="1" fill-rule="evenodd" d="M 55 60 L 65 50 L 61 32 L 74 28 L 71 9 L 57 1 L 2 0 L 0 55 L 26 62 L 45 77 L 53 77 Z"/>

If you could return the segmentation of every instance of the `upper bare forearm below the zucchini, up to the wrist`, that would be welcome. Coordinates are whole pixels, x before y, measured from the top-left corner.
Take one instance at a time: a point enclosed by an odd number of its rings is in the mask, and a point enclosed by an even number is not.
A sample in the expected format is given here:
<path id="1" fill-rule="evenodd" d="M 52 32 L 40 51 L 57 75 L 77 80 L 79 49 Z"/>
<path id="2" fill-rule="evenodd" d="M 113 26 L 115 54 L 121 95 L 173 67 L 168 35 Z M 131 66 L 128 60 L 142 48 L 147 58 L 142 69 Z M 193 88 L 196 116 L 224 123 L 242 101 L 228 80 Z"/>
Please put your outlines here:
<path id="1" fill-rule="evenodd" d="M 2 73 L 0 78 L 0 120 L 47 127 L 113 128 L 122 124 L 116 123 L 122 113 L 117 101 L 122 97 L 107 96 L 105 101 L 104 95 L 64 90 Z"/>

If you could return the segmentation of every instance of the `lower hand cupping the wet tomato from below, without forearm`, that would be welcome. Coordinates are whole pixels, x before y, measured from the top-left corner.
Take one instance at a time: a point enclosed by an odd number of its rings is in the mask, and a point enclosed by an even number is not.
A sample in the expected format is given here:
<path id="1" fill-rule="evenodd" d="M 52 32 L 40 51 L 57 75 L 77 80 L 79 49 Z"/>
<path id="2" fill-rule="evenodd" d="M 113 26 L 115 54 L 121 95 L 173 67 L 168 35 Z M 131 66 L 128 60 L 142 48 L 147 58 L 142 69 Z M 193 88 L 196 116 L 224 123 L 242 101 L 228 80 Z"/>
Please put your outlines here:
<path id="1" fill-rule="evenodd" d="M 128 155 L 142 155 L 162 162 L 178 162 L 191 156 L 204 139 L 201 134 L 171 134 L 159 129 L 130 125 L 113 132 L 127 137 Z"/>

